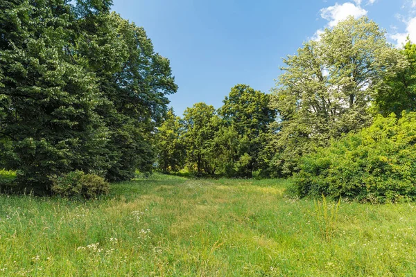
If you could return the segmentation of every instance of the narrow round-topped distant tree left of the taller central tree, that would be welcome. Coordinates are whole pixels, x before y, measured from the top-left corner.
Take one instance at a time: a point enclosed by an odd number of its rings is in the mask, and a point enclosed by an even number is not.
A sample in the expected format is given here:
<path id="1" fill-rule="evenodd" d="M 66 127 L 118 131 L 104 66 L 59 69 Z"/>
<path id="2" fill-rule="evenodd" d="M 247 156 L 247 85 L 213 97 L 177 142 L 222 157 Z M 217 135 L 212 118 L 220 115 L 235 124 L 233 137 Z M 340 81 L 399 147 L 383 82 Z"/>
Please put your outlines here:
<path id="1" fill-rule="evenodd" d="M 213 106 L 196 103 L 184 111 L 184 142 L 187 164 L 198 174 L 213 175 L 216 171 L 212 143 L 218 129 L 218 116 Z"/>

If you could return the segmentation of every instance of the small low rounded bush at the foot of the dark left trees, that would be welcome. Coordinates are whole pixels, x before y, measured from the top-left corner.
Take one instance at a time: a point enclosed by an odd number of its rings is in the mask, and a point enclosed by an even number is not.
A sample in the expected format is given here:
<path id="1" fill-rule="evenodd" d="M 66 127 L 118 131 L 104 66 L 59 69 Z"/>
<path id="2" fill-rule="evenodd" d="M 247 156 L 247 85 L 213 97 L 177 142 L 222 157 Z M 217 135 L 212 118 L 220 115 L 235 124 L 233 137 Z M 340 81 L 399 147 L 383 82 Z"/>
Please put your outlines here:
<path id="1" fill-rule="evenodd" d="M 85 174 L 76 170 L 67 175 L 51 177 L 51 190 L 55 195 L 64 197 L 91 198 L 98 195 L 105 195 L 110 190 L 110 184 L 94 174 Z"/>

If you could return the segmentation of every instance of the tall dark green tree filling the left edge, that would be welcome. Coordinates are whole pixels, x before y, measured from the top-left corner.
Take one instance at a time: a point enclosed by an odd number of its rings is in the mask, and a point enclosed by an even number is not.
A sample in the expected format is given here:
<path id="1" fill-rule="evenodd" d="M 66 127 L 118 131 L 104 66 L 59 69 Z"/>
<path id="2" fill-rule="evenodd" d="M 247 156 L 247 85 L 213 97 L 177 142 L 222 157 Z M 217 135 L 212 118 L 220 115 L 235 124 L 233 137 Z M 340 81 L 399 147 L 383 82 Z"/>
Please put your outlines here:
<path id="1" fill-rule="evenodd" d="M 0 3 L 3 160 L 23 186 L 49 190 L 49 176 L 108 167 L 107 127 L 93 73 L 68 51 L 75 35 L 64 0 Z"/>

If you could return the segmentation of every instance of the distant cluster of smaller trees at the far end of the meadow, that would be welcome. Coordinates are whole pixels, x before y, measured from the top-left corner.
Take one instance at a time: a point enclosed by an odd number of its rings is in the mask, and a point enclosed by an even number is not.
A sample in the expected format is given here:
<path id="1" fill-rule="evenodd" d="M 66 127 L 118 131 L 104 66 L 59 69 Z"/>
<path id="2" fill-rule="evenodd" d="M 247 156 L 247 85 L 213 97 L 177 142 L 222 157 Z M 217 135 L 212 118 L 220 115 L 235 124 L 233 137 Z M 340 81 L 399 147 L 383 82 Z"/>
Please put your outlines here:
<path id="1" fill-rule="evenodd" d="M 198 175 L 252 177 L 266 170 L 265 153 L 276 111 L 270 95 L 245 84 L 232 88 L 216 110 L 196 103 L 179 118 L 169 111 L 159 128 L 159 169 Z"/>

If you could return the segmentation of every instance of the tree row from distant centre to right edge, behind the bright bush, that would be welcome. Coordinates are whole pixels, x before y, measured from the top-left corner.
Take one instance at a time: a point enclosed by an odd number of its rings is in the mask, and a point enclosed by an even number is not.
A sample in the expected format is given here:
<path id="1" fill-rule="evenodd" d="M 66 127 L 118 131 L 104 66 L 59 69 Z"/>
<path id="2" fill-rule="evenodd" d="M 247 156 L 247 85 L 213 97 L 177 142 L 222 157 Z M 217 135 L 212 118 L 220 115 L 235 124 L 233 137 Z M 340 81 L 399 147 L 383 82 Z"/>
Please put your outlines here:
<path id="1" fill-rule="evenodd" d="M 296 175 L 304 157 L 369 127 L 378 114 L 415 111 L 415 51 L 410 42 L 403 50 L 388 44 L 367 17 L 349 17 L 288 55 L 271 94 L 239 84 L 218 110 L 198 103 L 183 118 L 171 111 L 159 129 L 159 169 Z"/>

